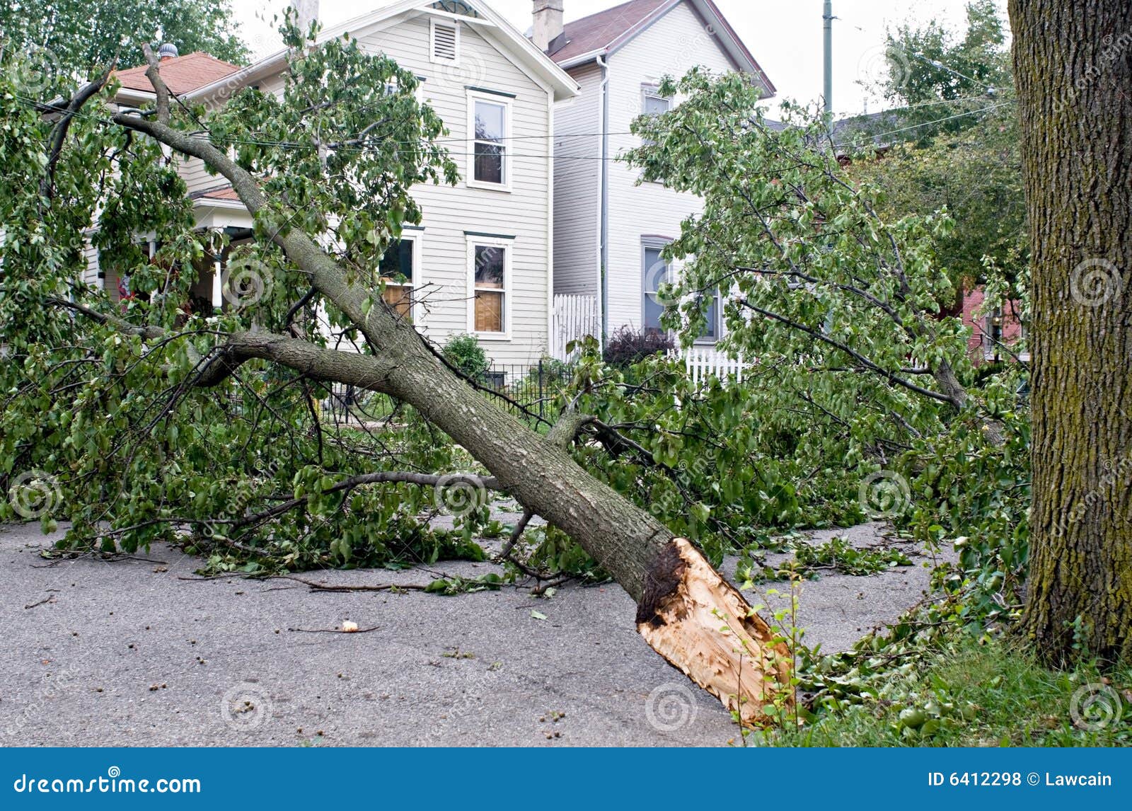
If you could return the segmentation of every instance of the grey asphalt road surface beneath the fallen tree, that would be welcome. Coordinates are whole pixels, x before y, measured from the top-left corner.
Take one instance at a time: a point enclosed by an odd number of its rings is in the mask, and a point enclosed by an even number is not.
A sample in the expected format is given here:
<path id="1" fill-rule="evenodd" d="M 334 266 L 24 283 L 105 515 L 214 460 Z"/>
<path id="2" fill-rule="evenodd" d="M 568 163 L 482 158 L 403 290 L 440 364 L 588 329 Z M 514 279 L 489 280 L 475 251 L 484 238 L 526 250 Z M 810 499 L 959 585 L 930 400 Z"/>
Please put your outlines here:
<path id="1" fill-rule="evenodd" d="M 850 533 L 872 544 L 882 529 Z M 722 707 L 637 637 L 633 601 L 614 584 L 549 599 L 515 588 L 311 592 L 195 580 L 200 561 L 169 547 L 52 563 L 38 554 L 52 540 L 37 524 L 0 526 L 2 745 L 722 745 L 736 735 Z M 798 624 L 808 643 L 843 649 L 927 582 L 923 565 L 826 575 L 804 584 Z M 334 632 L 343 622 L 361 632 Z"/>

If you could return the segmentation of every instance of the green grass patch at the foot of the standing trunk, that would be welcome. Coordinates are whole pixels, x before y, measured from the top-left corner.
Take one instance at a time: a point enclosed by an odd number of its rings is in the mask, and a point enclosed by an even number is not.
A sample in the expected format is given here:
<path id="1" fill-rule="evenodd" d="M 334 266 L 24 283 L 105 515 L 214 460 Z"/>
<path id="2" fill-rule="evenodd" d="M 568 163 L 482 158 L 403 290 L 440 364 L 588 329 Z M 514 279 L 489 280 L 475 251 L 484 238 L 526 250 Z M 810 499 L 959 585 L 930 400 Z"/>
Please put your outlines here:
<path id="1" fill-rule="evenodd" d="M 772 746 L 1130 746 L 1132 668 L 1052 671 L 1012 643 L 952 643 L 920 666 L 890 672 L 863 703 L 824 710 L 798 729 L 752 735 Z M 1091 688 L 1089 685 L 1092 685 Z M 1074 725 L 1120 717 L 1095 729 Z M 1103 692 L 1098 692 L 1098 690 Z M 1089 707 L 1087 697 L 1098 695 Z M 1114 700 L 1115 697 L 1115 700 Z M 1079 711 L 1080 715 L 1080 711 Z"/>

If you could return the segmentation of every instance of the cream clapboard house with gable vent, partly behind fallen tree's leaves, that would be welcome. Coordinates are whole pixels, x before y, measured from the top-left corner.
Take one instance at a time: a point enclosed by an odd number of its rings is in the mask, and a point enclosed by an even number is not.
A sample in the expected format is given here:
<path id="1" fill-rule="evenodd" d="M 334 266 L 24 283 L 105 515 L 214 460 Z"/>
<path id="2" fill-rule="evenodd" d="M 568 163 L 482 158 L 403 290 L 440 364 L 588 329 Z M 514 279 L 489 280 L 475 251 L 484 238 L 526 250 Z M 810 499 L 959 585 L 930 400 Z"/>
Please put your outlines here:
<path id="1" fill-rule="evenodd" d="M 456 187 L 413 189 L 423 221 L 381 263 L 402 282 L 388 284 L 386 299 L 438 343 L 472 333 L 498 364 L 537 362 L 549 345 L 554 292 L 548 145 L 555 105 L 577 94 L 576 83 L 482 0 L 401 0 L 319 39 L 344 33 L 422 79 L 421 100 L 444 119 L 461 173 Z M 282 93 L 285 63 L 285 51 L 245 68 L 192 53 L 163 61 L 162 75 L 174 93 L 215 106 L 247 86 Z M 153 99 L 144 74 L 118 74 L 120 103 Z M 223 178 L 197 160 L 180 171 L 200 228 L 250 238 L 251 220 Z M 201 271 L 195 292 L 221 306 L 220 281 Z"/>

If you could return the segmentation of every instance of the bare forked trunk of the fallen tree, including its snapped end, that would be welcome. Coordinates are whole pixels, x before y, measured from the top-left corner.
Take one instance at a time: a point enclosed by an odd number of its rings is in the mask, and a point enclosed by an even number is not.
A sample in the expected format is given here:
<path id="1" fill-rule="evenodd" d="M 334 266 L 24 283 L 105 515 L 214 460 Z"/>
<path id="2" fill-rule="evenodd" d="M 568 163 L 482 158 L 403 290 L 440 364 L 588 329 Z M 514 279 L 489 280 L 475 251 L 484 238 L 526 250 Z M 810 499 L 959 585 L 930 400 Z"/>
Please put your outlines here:
<path id="1" fill-rule="evenodd" d="M 264 208 L 257 181 L 207 142 L 129 113 L 114 121 L 200 157 L 232 182 L 249 212 Z M 412 404 L 491 471 L 525 510 L 567 532 L 620 583 L 637 604 L 638 631 L 669 663 L 747 724 L 769 723 L 763 707 L 775 699 L 789 703 L 790 651 L 774 642 L 766 622 L 694 546 L 586 473 L 566 443 L 531 430 L 453 374 L 408 319 L 351 282 L 314 240 L 297 230 L 269 231 L 289 259 L 309 274 L 311 285 L 358 325 L 374 355 L 245 333 L 232 336 L 226 362 L 265 358 Z"/>

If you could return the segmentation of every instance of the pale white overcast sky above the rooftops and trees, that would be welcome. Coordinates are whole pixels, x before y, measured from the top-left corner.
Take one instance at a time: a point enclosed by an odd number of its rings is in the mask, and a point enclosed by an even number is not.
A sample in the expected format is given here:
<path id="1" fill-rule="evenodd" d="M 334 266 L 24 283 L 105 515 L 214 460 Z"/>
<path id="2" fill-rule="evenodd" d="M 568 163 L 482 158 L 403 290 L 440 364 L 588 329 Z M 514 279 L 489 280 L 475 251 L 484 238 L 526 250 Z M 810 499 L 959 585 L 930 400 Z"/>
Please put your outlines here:
<path id="1" fill-rule="evenodd" d="M 487 0 L 520 31 L 531 27 L 531 0 Z M 269 20 L 289 0 L 232 0 L 245 41 L 255 56 L 280 48 Z M 321 0 L 326 25 L 388 5 L 387 0 Z M 565 0 L 566 22 L 618 5 L 618 0 Z M 822 95 L 822 0 L 715 0 L 771 82 L 778 99 L 816 101 Z M 833 111 L 837 116 L 885 106 L 866 85 L 884 75 L 884 35 L 904 22 L 937 19 L 962 28 L 966 0 L 833 0 Z M 1005 16 L 1005 0 L 1001 0 Z"/>

